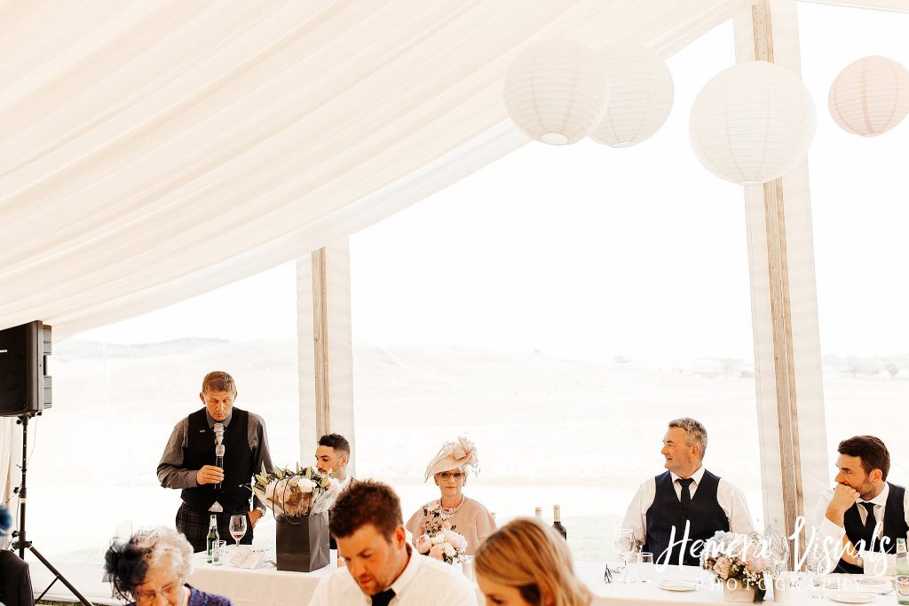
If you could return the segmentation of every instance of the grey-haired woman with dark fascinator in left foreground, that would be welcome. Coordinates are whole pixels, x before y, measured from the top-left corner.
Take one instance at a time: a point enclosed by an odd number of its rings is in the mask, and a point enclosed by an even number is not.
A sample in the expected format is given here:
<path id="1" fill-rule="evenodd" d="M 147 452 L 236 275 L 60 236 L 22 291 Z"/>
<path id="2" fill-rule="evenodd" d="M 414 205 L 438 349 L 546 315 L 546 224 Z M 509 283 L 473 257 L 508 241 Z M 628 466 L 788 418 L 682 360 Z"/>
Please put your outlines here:
<path id="1" fill-rule="evenodd" d="M 117 541 L 105 553 L 105 580 L 130 606 L 231 606 L 220 595 L 187 585 L 193 547 L 177 531 L 158 527 Z"/>

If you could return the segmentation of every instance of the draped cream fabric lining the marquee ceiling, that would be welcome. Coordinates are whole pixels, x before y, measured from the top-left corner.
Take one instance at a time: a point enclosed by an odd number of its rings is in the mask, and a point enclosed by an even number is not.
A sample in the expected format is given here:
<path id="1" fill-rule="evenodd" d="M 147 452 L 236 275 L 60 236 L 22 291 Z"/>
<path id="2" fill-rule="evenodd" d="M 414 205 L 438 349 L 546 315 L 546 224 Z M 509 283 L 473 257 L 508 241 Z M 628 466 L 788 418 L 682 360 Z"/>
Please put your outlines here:
<path id="1" fill-rule="evenodd" d="M 751 4 L 5 4 L 0 328 L 60 340 L 309 253 L 524 144 L 526 45 L 666 56 Z"/>

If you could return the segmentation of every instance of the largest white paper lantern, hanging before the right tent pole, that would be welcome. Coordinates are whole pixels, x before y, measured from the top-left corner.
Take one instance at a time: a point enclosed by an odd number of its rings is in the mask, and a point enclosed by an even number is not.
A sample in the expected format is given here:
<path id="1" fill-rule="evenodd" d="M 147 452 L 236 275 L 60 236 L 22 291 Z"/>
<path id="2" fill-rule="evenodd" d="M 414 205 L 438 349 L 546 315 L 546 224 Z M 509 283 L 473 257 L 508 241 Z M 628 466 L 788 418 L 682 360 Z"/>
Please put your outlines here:
<path id="1" fill-rule="evenodd" d="M 795 168 L 814 138 L 814 103 L 802 81 L 765 61 L 725 69 L 691 108 L 689 134 L 707 170 L 741 185 L 773 181 Z"/>

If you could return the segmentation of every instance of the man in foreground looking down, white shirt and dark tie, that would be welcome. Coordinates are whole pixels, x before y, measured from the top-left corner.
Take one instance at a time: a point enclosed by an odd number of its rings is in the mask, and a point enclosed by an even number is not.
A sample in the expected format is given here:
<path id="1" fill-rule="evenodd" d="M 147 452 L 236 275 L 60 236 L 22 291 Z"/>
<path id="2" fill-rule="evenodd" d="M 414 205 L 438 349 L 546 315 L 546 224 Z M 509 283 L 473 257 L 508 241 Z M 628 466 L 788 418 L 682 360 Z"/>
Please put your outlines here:
<path id="1" fill-rule="evenodd" d="M 328 527 L 346 567 L 319 582 L 310 606 L 476 606 L 460 568 L 420 555 L 406 541 L 391 487 L 356 482 L 335 501 Z"/>

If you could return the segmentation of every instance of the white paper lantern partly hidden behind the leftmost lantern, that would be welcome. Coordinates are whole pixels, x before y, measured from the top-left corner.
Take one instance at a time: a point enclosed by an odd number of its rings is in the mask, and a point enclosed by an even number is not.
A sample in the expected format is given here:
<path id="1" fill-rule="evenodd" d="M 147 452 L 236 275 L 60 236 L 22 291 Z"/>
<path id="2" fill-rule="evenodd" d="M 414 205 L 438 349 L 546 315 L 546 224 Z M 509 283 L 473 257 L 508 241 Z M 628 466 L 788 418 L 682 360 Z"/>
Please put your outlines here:
<path id="1" fill-rule="evenodd" d="M 615 45 L 600 54 L 609 79 L 609 104 L 590 138 L 611 147 L 639 144 L 659 130 L 673 106 L 673 76 L 644 46 Z"/>

